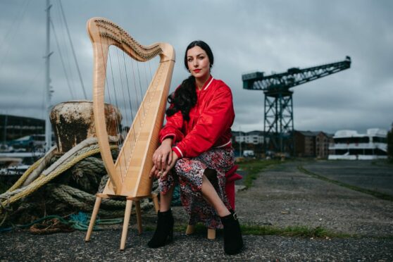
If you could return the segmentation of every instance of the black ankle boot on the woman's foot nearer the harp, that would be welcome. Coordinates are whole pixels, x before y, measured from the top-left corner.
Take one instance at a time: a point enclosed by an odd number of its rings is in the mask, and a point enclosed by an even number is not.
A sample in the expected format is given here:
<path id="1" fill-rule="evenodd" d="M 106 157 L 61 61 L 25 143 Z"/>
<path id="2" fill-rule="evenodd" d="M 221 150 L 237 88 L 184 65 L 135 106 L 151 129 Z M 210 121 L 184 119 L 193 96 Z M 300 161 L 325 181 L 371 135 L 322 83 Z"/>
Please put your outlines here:
<path id="1" fill-rule="evenodd" d="M 163 247 L 173 240 L 173 216 L 172 210 L 166 212 L 158 211 L 156 232 L 147 243 L 149 247 Z"/>

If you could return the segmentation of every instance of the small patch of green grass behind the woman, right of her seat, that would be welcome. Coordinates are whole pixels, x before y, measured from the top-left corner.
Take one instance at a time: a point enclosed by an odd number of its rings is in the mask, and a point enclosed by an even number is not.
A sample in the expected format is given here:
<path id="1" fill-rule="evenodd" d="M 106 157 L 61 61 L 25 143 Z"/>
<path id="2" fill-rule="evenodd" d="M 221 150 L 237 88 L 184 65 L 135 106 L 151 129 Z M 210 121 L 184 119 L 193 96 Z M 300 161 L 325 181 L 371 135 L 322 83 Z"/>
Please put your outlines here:
<path id="1" fill-rule="evenodd" d="M 247 175 L 244 178 L 244 185 L 249 188 L 262 170 L 270 166 L 276 166 L 282 163 L 280 160 L 250 160 L 238 163 L 239 168 L 244 170 Z"/>

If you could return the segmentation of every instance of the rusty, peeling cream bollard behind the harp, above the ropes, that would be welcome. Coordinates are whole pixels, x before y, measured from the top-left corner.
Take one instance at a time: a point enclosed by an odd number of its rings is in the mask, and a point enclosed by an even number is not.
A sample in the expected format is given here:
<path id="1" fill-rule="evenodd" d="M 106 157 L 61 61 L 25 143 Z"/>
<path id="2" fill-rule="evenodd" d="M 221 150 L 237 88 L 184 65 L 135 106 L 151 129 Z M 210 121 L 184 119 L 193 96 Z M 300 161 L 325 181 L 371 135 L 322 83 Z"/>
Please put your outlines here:
<path id="1" fill-rule="evenodd" d="M 121 122 L 120 111 L 105 104 L 106 131 L 116 136 L 116 123 Z M 96 136 L 92 101 L 67 101 L 51 110 L 51 124 L 56 137 L 58 154 L 64 154 L 83 140 Z"/>

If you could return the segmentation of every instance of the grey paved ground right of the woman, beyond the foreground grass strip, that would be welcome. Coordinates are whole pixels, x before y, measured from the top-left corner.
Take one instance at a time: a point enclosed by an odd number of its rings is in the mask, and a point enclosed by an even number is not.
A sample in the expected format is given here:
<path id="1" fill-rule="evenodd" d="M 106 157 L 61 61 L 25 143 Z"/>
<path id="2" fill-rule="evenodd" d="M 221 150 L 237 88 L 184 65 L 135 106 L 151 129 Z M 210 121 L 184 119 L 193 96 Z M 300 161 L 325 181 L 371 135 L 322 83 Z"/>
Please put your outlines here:
<path id="1" fill-rule="evenodd" d="M 370 237 L 393 235 L 392 201 L 318 180 L 297 170 L 299 165 L 306 169 L 312 166 L 311 170 L 318 174 L 319 170 L 326 173 L 329 166 L 336 170 L 336 165 L 342 168 L 342 173 L 354 172 L 351 166 L 345 169 L 342 161 L 289 162 L 266 170 L 255 180 L 254 187 L 237 194 L 237 212 L 243 223 L 322 226 L 333 232 Z M 366 170 L 370 172 L 369 177 L 375 175 L 372 169 Z"/>

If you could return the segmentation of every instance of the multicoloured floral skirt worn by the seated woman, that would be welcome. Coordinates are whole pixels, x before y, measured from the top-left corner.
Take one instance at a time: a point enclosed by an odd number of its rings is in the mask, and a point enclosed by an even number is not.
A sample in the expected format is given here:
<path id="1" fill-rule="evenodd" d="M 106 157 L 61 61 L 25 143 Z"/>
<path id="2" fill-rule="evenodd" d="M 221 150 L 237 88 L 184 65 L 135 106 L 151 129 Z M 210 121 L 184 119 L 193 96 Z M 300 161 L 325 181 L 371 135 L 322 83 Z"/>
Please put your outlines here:
<path id="1" fill-rule="evenodd" d="M 202 196 L 202 176 L 206 168 L 217 171 L 216 192 L 225 206 L 230 209 L 225 194 L 225 172 L 232 168 L 234 162 L 232 146 L 227 149 L 211 149 L 195 158 L 180 158 L 175 164 L 175 172 L 158 180 L 160 192 L 166 194 L 168 189 L 178 182 L 182 206 L 189 214 L 189 225 L 201 222 L 208 228 L 223 228 L 216 209 Z"/>

